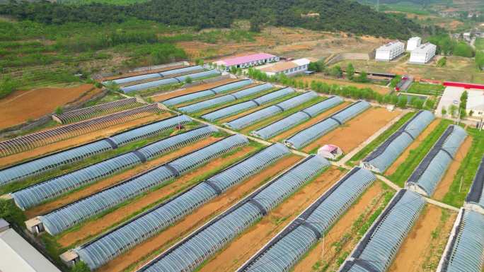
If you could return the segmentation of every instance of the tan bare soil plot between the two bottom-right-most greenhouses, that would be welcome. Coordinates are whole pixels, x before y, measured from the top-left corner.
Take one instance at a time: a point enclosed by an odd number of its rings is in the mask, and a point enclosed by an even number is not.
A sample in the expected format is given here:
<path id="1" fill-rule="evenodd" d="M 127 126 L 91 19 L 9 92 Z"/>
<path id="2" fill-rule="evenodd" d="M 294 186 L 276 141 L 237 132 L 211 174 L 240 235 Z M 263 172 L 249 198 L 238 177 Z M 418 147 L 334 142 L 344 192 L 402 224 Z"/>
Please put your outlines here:
<path id="1" fill-rule="evenodd" d="M 427 204 L 398 250 L 388 271 L 435 271 L 456 216 L 456 213 Z"/>

